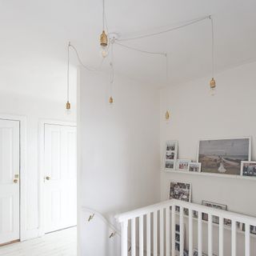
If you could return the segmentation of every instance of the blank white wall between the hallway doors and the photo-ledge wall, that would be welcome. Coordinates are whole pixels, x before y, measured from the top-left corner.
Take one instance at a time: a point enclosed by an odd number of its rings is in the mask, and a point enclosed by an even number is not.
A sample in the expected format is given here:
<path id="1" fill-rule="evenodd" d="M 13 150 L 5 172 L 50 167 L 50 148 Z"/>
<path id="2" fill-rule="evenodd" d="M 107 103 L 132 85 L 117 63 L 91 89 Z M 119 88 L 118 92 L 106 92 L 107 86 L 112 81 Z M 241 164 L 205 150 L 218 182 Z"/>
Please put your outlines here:
<path id="1" fill-rule="evenodd" d="M 117 76 L 114 106 L 109 106 L 108 81 L 109 75 L 82 70 L 80 195 L 82 206 L 114 223 L 115 214 L 160 200 L 159 92 Z M 96 255 L 86 250 L 89 246 L 82 244 L 82 254 Z M 98 247 L 109 255 L 106 245 Z"/>

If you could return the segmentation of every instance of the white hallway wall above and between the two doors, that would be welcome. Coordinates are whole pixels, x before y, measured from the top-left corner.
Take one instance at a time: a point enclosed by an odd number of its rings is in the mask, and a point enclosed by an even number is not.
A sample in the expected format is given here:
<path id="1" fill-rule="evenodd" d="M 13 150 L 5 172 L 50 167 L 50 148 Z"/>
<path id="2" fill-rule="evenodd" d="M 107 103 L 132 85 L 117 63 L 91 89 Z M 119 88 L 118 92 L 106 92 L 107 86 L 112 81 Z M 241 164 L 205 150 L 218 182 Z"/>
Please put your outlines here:
<path id="1" fill-rule="evenodd" d="M 40 119 L 62 121 L 76 120 L 76 110 L 70 115 L 65 111 L 63 102 L 54 102 L 40 98 L 0 92 L 0 114 L 14 114 L 26 117 L 26 238 L 38 235 L 38 125 Z M 23 179 L 22 182 L 25 182 Z"/>

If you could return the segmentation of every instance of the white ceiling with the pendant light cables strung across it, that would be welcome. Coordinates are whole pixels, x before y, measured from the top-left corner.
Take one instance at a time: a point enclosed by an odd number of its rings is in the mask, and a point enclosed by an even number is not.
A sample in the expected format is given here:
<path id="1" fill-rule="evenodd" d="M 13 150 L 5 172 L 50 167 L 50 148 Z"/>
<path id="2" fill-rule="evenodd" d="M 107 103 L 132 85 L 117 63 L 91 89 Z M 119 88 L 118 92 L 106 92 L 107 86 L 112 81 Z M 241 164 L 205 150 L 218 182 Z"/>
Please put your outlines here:
<path id="1" fill-rule="evenodd" d="M 212 14 L 217 72 L 256 59 L 255 11 L 254 0 L 106 0 L 109 31 L 122 37 Z M 101 62 L 98 37 L 102 30 L 102 0 L 2 0 L 0 21 L 2 89 L 64 97 L 69 41 L 77 46 L 87 65 L 98 66 Z M 170 53 L 170 82 L 179 84 L 210 76 L 210 36 L 210 20 L 206 20 L 126 44 Z M 71 62 L 77 65 L 74 53 L 71 55 Z M 104 70 L 109 70 L 107 62 Z M 163 86 L 165 81 L 162 56 L 115 46 L 114 66 L 117 73 L 150 84 Z"/>

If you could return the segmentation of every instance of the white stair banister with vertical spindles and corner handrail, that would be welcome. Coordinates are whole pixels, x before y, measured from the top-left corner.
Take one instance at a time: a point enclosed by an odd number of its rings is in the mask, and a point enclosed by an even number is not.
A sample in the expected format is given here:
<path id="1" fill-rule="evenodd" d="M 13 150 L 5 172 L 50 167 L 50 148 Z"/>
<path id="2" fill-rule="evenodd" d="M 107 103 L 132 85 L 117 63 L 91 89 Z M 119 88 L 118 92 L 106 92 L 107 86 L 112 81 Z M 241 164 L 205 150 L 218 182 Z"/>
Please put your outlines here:
<path id="1" fill-rule="evenodd" d="M 176 206 L 180 209 L 179 212 L 176 212 Z M 170 210 L 171 209 L 171 210 Z M 189 215 L 188 217 L 184 215 L 184 209 L 188 209 Z M 194 218 L 193 213 L 198 213 L 198 218 Z M 152 229 L 150 228 L 151 223 L 151 214 L 153 216 L 153 226 Z M 208 222 L 205 220 L 202 220 L 202 214 L 208 214 Z M 179 218 L 176 218 L 176 215 L 179 215 Z M 143 218 L 146 216 L 146 246 L 144 246 L 144 226 L 143 226 Z M 213 217 L 219 218 L 219 224 L 215 224 L 213 222 Z M 131 230 L 132 231 L 132 241 L 136 240 L 133 238 L 133 233 L 136 234 L 136 229 L 139 229 L 140 239 L 139 244 L 135 246 L 135 249 L 139 247 L 138 251 L 140 252 L 139 256 L 146 255 L 151 256 L 151 252 L 153 252 L 154 256 L 163 256 L 164 254 L 166 256 L 176 256 L 178 252 L 175 250 L 175 230 L 176 230 L 176 224 L 180 224 L 180 240 L 179 240 L 179 246 L 180 251 L 179 255 L 183 255 L 183 249 L 185 251 L 189 250 L 189 255 L 193 256 L 193 250 L 194 250 L 194 234 L 198 236 L 198 256 L 202 256 L 202 254 L 208 253 L 208 255 L 212 256 L 214 254 L 218 254 L 219 256 L 224 256 L 226 254 L 226 248 L 225 248 L 225 254 L 224 254 L 224 229 L 229 230 L 228 232 L 225 231 L 225 235 L 230 236 L 228 240 L 231 240 L 231 255 L 232 256 L 240 256 L 241 254 L 241 246 L 238 246 L 237 249 L 237 224 L 244 223 L 246 226 L 246 230 L 243 233 L 245 238 L 245 250 L 243 252 L 243 255 L 245 256 L 252 256 L 250 255 L 250 249 L 254 250 L 254 247 L 251 247 L 250 242 L 255 240 L 251 240 L 250 238 L 252 234 L 250 234 L 250 226 L 256 226 L 256 218 L 246 216 L 243 214 L 237 214 L 234 212 L 230 212 L 227 210 L 219 210 L 215 208 L 211 208 L 208 206 L 202 206 L 190 202 L 183 202 L 175 199 L 171 199 L 165 202 L 160 202 L 158 204 L 152 205 L 152 206 L 146 206 L 138 210 L 132 210 L 125 214 L 119 214 L 116 216 L 118 219 L 118 222 L 121 222 L 122 224 L 122 256 L 127 256 L 127 225 L 130 220 L 131 221 Z M 139 218 L 140 225 L 139 227 L 134 226 L 134 220 L 136 218 Z M 184 219 L 188 218 L 188 224 L 187 222 L 184 222 Z M 230 220 L 231 222 L 231 229 L 224 225 L 225 219 Z M 159 222 L 159 227 L 158 227 Z M 198 222 L 198 229 L 193 230 L 194 222 Z M 186 245 L 188 245 L 188 248 L 184 248 L 184 226 L 188 225 L 189 234 L 188 243 L 186 242 Z M 205 242 L 205 240 L 202 240 L 202 225 L 204 225 L 204 228 L 207 228 L 208 233 L 208 251 L 202 251 L 202 242 Z M 218 226 L 217 226 L 218 225 Z M 133 227 L 134 226 L 134 227 Z M 217 245 L 213 245 L 214 241 L 214 226 L 218 227 L 218 248 L 216 248 Z M 159 228 L 159 230 L 158 230 Z M 187 228 L 187 227 L 186 227 Z M 151 233 L 152 231 L 152 233 Z M 197 231 L 197 234 L 196 232 Z M 239 231 L 241 234 L 241 230 Z M 153 235 L 153 239 L 151 239 L 151 236 Z M 159 245 L 158 245 L 158 239 L 159 239 Z M 151 244 L 151 241 L 152 244 Z M 135 241 L 136 242 L 136 241 Z M 134 243 L 135 243 L 134 242 Z M 133 249 L 134 245 L 132 242 L 132 252 L 135 250 Z M 204 246 L 205 248 L 205 246 Z M 216 250 L 216 251 L 215 251 Z M 243 250 L 243 249 L 242 249 Z M 132 256 L 134 256 L 135 252 L 132 253 Z M 239 254 L 239 255 L 238 255 Z"/>

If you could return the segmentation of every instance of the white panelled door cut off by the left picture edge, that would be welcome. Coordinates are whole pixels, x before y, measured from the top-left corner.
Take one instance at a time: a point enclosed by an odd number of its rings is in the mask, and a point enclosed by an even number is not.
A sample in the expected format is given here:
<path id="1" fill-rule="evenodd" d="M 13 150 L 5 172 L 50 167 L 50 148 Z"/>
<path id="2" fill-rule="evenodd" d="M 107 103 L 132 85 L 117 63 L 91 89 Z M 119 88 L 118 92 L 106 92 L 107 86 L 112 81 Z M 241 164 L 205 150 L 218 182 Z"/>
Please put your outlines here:
<path id="1" fill-rule="evenodd" d="M 19 239 L 19 121 L 0 119 L 0 245 Z"/>

